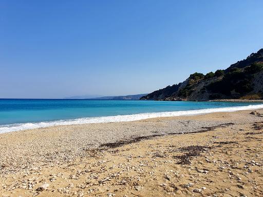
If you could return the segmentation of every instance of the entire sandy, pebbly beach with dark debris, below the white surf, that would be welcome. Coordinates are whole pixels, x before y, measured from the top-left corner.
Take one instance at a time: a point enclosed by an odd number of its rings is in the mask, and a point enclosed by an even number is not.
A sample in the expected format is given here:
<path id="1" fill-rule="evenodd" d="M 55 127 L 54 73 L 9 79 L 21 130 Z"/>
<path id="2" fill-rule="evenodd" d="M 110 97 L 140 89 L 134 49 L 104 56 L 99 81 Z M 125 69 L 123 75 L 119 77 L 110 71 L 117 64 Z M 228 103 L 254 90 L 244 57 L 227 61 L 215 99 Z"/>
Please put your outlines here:
<path id="1" fill-rule="evenodd" d="M 0 193 L 262 196 L 263 117 L 251 111 L 3 133 Z"/>

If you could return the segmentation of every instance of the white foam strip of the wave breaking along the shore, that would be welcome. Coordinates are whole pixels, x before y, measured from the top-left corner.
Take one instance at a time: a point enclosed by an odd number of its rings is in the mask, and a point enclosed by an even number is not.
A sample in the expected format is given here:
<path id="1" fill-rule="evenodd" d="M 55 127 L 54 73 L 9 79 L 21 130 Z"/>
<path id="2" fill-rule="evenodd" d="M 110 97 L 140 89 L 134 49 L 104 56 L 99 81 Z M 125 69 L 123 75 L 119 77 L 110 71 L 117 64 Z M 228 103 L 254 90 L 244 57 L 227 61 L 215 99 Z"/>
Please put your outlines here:
<path id="1" fill-rule="evenodd" d="M 129 121 L 139 121 L 139 120 L 143 120 L 143 119 L 151 119 L 153 117 L 198 115 L 198 114 L 206 114 L 206 113 L 213 113 L 213 112 L 231 112 L 231 111 L 239 111 L 239 110 L 254 110 L 254 109 L 261 109 L 261 108 L 263 108 L 263 104 L 261 104 L 261 105 L 249 105 L 249 106 L 238 106 L 238 107 L 198 109 L 198 110 L 188 110 L 188 111 L 170 111 L 170 112 L 156 112 L 156 113 L 139 113 L 139 114 L 132 114 L 132 115 L 84 117 L 81 119 L 60 120 L 60 121 L 50 121 L 50 122 L 40 122 L 40 123 L 10 124 L 10 125 L 0 126 L 0 133 L 26 130 L 26 129 L 35 129 L 35 128 L 41 128 L 41 127 L 50 127 L 50 126 L 57 126 L 57 125 L 129 122 Z"/>

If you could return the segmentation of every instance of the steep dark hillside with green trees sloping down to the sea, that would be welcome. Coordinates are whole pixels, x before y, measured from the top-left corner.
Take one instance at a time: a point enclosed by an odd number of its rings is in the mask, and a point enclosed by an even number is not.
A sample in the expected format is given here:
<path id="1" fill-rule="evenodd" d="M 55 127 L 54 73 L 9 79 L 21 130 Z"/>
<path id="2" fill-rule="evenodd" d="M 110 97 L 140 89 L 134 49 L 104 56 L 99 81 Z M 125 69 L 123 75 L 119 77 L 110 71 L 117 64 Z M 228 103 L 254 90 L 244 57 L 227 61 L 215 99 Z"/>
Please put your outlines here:
<path id="1" fill-rule="evenodd" d="M 226 70 L 194 73 L 184 82 L 141 97 L 142 100 L 208 101 L 214 99 L 263 99 L 263 49 Z"/>

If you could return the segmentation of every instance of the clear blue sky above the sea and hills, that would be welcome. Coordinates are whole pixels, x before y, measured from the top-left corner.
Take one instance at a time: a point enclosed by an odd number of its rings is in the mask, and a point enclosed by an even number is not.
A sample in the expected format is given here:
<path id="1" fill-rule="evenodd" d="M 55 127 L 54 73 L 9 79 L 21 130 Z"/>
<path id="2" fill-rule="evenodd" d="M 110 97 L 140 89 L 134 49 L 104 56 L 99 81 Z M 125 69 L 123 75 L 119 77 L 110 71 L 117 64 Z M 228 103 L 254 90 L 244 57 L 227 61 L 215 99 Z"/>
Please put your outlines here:
<path id="1" fill-rule="evenodd" d="M 0 97 L 152 92 L 263 47 L 263 1 L 0 0 Z"/>

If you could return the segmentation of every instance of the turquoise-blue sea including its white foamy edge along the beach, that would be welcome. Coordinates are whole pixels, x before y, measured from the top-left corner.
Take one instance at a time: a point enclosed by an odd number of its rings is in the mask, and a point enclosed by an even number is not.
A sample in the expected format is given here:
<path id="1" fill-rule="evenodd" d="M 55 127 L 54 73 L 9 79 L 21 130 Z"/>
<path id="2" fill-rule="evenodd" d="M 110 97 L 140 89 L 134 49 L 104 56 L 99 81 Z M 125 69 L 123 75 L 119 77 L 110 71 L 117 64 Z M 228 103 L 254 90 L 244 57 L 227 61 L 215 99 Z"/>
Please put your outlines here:
<path id="1" fill-rule="evenodd" d="M 0 133 L 260 108 L 263 103 L 0 99 Z"/>

